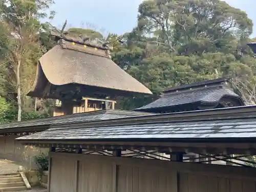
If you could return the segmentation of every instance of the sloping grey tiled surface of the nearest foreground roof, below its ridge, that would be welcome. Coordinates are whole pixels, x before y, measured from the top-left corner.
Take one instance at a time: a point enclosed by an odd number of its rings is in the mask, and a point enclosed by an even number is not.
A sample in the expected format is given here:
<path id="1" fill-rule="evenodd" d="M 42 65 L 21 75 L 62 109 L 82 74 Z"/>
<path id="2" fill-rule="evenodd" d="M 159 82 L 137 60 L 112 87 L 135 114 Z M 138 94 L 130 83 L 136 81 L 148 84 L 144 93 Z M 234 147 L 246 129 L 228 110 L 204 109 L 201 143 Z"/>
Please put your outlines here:
<path id="1" fill-rule="evenodd" d="M 136 121 L 134 122 L 136 123 Z M 18 140 L 203 139 L 256 137 L 256 117 L 51 129 Z"/>

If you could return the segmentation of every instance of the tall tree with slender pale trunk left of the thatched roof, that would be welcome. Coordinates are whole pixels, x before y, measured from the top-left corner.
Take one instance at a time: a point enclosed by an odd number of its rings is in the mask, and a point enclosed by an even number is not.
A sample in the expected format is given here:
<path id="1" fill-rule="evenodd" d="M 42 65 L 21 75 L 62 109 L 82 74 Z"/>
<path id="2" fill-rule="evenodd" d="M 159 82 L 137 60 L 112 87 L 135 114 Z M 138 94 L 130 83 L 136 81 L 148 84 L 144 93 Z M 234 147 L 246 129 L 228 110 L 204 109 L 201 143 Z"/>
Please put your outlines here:
<path id="1" fill-rule="evenodd" d="M 0 36 L 8 42 L 1 45 L 4 50 L 3 61 L 10 73 L 6 76 L 9 78 L 7 82 L 11 82 L 14 93 L 17 93 L 18 121 L 22 119 L 22 99 L 31 85 L 34 66 L 42 51 L 39 39 L 45 25 L 40 25 L 38 19 L 46 16 L 42 10 L 49 8 L 52 3 L 51 0 L 1 3 L 3 14 L 0 25 L 3 30 L 0 32 L 4 33 Z"/>

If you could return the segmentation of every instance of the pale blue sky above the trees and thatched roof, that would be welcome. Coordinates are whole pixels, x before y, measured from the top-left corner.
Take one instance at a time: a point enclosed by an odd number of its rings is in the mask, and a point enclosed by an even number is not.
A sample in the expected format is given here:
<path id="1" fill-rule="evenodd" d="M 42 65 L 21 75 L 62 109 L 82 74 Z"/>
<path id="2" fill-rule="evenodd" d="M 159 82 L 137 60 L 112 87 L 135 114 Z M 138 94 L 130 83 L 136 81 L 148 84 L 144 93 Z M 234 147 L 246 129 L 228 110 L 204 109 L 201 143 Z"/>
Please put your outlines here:
<path id="1" fill-rule="evenodd" d="M 232 7 L 246 11 L 253 20 L 252 37 L 256 37 L 255 0 L 226 0 Z M 56 11 L 52 24 L 61 28 L 92 28 L 103 34 L 130 32 L 137 24 L 138 6 L 142 0 L 55 0 L 51 8 Z"/>

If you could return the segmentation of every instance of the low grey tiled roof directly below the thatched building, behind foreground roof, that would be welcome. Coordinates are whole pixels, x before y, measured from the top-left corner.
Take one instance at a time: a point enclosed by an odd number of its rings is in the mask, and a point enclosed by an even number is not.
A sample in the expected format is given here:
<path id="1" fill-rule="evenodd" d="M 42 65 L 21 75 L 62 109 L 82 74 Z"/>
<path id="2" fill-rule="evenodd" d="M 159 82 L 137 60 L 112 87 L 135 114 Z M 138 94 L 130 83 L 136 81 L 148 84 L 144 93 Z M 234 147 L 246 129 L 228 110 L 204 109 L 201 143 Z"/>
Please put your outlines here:
<path id="1" fill-rule="evenodd" d="M 44 119 L 0 124 L 0 131 L 7 130 L 14 127 L 44 126 L 44 125 L 59 124 L 59 123 L 143 116 L 148 114 L 151 114 L 151 113 L 141 113 L 141 112 L 124 111 L 124 110 L 100 110 L 100 111 L 87 112 L 87 113 L 77 113 L 77 114 L 71 114 L 71 115 L 49 117 Z"/>

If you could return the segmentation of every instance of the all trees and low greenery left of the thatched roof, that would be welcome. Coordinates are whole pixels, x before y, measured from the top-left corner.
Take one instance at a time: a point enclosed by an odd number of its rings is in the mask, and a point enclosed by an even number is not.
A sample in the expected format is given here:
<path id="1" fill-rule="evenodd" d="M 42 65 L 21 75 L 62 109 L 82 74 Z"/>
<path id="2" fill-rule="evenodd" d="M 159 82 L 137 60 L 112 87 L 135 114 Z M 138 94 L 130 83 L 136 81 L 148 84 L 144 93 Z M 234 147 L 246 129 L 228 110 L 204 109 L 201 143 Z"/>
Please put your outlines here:
<path id="1" fill-rule="evenodd" d="M 32 86 L 38 58 L 51 47 L 49 31 L 53 27 L 40 23 L 39 19 L 54 16 L 54 11 L 47 15 L 53 3 L 53 0 L 0 1 L 0 93 L 10 102 L 2 122 L 13 121 L 14 117 L 28 120 L 44 116 L 26 107 L 32 104 L 28 104 L 25 95 Z"/>

